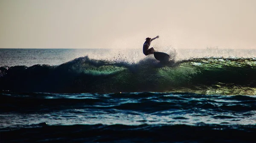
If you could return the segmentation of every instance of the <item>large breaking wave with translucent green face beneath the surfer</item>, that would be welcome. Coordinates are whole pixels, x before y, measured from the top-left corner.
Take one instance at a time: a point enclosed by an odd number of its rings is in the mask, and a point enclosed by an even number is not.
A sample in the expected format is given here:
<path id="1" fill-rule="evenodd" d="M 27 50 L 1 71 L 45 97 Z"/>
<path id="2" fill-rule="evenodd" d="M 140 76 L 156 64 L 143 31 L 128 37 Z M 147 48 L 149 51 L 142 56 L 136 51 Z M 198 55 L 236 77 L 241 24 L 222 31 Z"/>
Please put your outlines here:
<path id="1" fill-rule="evenodd" d="M 201 58 L 137 63 L 80 57 L 51 66 L 0 67 L 0 90 L 47 93 L 193 92 L 256 94 L 256 59 Z"/>

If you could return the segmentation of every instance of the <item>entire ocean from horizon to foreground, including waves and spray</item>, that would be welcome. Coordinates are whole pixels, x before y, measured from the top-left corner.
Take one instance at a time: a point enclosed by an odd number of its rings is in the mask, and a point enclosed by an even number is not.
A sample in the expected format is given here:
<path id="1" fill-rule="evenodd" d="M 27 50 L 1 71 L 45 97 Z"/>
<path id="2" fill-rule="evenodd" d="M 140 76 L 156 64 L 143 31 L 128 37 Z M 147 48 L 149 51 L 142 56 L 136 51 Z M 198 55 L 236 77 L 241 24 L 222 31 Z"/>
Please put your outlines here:
<path id="1" fill-rule="evenodd" d="M 0 143 L 254 143 L 256 50 L 0 49 Z"/>

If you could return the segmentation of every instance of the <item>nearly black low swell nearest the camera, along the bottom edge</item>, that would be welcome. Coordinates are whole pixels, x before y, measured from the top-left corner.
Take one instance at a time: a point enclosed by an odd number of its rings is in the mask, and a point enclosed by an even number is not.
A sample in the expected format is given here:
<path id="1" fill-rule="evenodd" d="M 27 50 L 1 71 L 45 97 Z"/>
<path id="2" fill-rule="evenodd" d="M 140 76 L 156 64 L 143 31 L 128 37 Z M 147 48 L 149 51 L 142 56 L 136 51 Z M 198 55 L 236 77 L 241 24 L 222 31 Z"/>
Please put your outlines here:
<path id="1" fill-rule="evenodd" d="M 187 125 L 71 125 L 42 126 L 2 131 L 5 143 L 33 142 L 180 142 L 254 143 L 255 126 Z"/>

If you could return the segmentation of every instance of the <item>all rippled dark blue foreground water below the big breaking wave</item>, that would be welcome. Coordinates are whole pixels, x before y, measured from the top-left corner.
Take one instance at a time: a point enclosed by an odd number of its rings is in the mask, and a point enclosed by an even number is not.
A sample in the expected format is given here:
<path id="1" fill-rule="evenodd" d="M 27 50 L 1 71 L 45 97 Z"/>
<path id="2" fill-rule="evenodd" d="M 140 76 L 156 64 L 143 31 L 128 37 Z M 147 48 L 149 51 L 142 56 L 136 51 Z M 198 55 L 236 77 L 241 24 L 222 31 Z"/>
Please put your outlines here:
<path id="1" fill-rule="evenodd" d="M 3 143 L 255 143 L 256 96 L 0 93 Z"/>

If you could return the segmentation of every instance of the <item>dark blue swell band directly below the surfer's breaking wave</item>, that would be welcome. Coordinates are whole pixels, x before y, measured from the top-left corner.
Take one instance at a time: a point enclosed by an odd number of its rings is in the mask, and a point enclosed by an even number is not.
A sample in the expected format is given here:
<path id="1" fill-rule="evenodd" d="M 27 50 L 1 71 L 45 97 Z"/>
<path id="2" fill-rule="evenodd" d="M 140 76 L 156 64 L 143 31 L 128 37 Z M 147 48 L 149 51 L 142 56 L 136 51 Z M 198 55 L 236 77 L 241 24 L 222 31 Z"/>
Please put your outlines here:
<path id="1" fill-rule="evenodd" d="M 236 117 L 241 118 L 244 113 L 254 111 L 255 104 L 256 97 L 247 95 L 219 96 L 194 93 L 0 93 L 0 107 L 2 107 L 0 108 L 0 113 L 49 113 L 66 109 L 70 109 L 68 112 L 73 112 L 71 109 L 85 109 L 86 107 L 90 109 L 90 112 L 97 109 L 117 109 L 157 115 L 169 114 L 168 112 L 162 112 L 168 109 L 172 109 L 175 112 L 182 109 L 182 112 L 190 110 L 191 115 L 196 113 L 198 116 L 207 116 L 209 115 L 208 112 L 205 114 L 200 111 L 210 109 L 222 113 L 236 112 Z M 195 111 L 192 111 L 193 107 L 196 107 Z M 239 112 L 241 115 L 239 115 Z M 81 114 L 84 112 L 76 111 L 75 113 Z M 216 118 L 222 117 L 216 116 Z"/>

